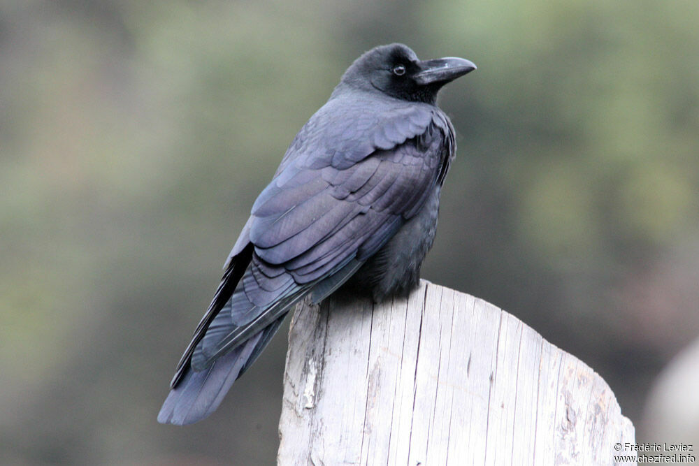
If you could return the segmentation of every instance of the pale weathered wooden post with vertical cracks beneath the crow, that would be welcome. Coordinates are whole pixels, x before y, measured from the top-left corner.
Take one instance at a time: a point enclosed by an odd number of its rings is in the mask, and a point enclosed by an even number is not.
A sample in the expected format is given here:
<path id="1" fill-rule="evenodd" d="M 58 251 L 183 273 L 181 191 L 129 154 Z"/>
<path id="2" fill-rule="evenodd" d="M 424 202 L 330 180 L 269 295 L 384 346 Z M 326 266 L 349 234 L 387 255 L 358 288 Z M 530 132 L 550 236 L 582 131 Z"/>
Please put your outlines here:
<path id="1" fill-rule="evenodd" d="M 635 458 L 614 447 L 634 429 L 605 381 L 507 312 L 425 281 L 407 300 L 327 301 L 291 322 L 278 464 Z"/>

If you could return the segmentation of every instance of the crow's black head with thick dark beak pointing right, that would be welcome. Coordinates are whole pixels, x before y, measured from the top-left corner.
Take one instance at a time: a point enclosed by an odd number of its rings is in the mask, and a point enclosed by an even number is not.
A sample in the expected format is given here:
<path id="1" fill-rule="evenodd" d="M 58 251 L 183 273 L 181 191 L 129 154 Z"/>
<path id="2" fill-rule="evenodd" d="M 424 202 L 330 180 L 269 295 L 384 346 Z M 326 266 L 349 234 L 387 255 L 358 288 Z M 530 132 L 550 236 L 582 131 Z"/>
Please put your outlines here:
<path id="1" fill-rule="evenodd" d="M 340 87 L 377 90 L 396 99 L 435 103 L 442 86 L 475 69 L 473 62 L 457 57 L 419 60 L 408 46 L 394 43 L 362 54 L 347 68 Z"/>

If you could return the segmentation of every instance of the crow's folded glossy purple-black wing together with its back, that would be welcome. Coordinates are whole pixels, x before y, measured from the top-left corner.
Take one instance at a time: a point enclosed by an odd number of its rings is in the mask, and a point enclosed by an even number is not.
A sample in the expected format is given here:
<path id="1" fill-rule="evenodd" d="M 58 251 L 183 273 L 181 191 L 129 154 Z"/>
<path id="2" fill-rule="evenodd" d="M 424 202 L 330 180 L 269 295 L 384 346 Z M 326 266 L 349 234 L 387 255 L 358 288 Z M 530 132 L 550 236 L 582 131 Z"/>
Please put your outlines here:
<path id="1" fill-rule="evenodd" d="M 366 112 L 354 101 L 354 115 L 347 105 L 344 115 L 330 108 L 340 115 L 333 121 L 323 115 L 332 102 L 304 126 L 254 203 L 237 245 L 254 245 L 252 261 L 196 344 L 195 370 L 278 321 L 308 292 L 320 300 L 334 291 L 442 182 L 454 139 L 439 110 L 412 103 Z"/>

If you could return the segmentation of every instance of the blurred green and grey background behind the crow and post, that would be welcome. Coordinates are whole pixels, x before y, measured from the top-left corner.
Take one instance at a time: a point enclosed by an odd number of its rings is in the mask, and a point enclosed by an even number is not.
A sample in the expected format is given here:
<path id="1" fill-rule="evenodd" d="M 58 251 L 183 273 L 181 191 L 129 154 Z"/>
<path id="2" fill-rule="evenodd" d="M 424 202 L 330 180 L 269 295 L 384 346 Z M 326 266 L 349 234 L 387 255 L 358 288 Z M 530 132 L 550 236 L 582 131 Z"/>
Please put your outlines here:
<path id="1" fill-rule="evenodd" d="M 637 425 L 699 335 L 699 3 L 0 2 L 0 462 L 271 464 L 285 330 L 155 417 L 284 150 L 368 48 L 479 69 L 423 277 L 591 365 Z M 672 440 L 672 439 L 671 439 Z"/>

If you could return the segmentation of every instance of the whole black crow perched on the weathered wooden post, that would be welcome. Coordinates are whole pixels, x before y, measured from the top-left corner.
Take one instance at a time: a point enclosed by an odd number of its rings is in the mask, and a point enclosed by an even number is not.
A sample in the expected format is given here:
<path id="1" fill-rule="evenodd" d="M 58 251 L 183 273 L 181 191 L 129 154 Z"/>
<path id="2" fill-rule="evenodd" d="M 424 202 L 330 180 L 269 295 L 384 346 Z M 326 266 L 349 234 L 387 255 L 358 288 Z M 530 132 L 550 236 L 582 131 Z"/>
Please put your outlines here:
<path id="1" fill-rule="evenodd" d="M 475 68 L 397 43 L 347 68 L 252 206 L 159 422 L 214 412 L 309 293 L 318 303 L 344 284 L 380 301 L 417 286 L 456 151 L 437 93 Z"/>

